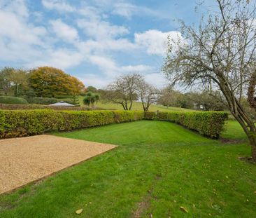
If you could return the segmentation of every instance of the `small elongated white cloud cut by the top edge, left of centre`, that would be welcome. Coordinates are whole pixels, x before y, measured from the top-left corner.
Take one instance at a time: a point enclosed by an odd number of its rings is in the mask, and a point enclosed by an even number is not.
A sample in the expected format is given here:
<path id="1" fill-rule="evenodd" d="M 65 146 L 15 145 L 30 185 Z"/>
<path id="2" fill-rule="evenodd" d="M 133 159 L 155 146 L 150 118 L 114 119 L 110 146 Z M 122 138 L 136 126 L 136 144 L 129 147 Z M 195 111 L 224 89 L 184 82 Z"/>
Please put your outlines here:
<path id="1" fill-rule="evenodd" d="M 57 10 L 59 12 L 73 12 L 76 11 L 76 8 L 67 4 L 65 1 L 62 0 L 42 0 L 43 6 L 48 8 L 49 10 Z"/>

